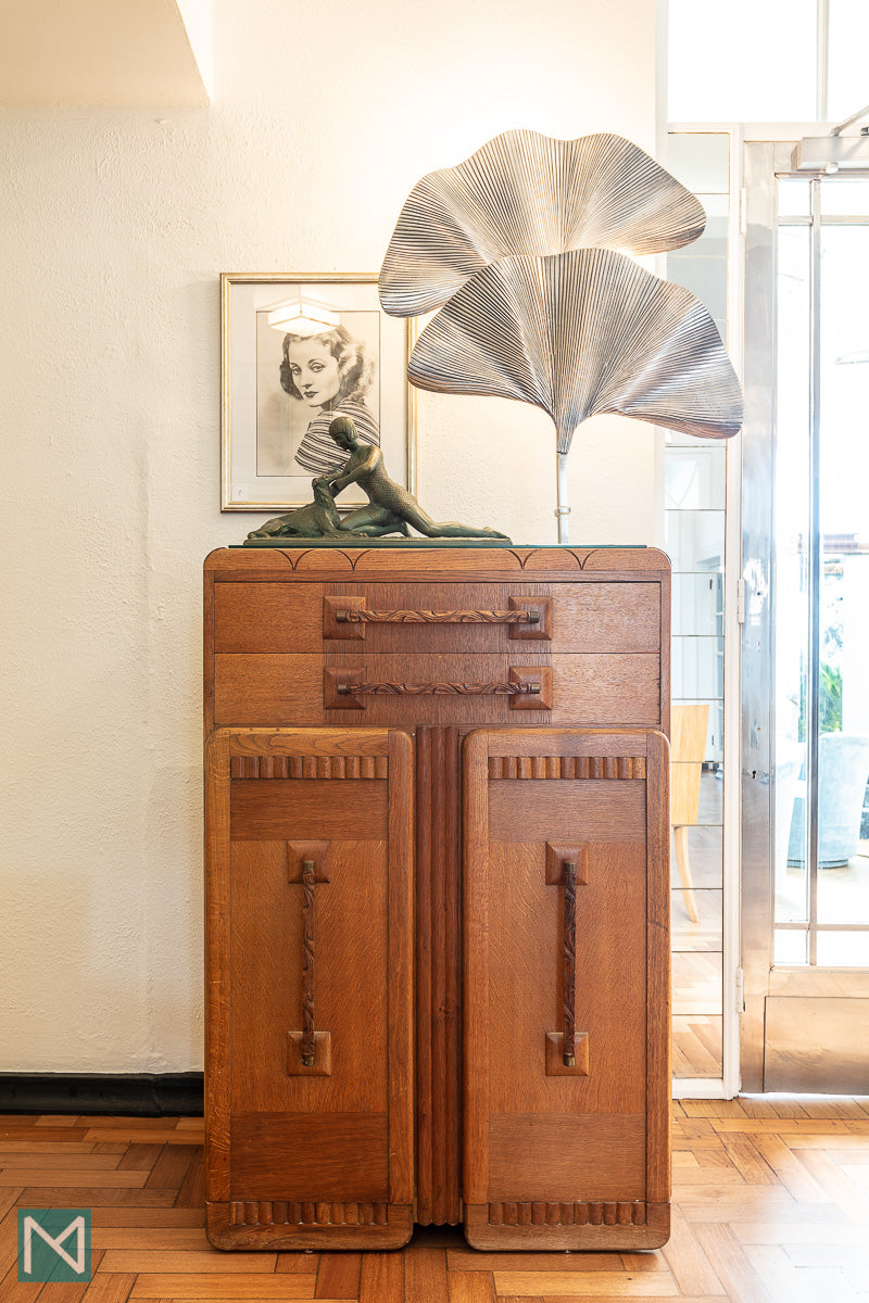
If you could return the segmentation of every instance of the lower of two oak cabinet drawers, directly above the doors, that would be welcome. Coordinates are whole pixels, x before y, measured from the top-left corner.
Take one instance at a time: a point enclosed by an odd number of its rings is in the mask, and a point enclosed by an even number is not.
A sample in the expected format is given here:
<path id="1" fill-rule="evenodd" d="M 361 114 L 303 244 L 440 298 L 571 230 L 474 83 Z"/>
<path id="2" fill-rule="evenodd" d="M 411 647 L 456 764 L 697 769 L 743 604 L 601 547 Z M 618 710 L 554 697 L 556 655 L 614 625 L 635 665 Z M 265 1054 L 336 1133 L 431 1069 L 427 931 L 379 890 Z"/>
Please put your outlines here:
<path id="1" fill-rule="evenodd" d="M 537 675 L 534 671 L 541 671 Z M 539 678 L 538 709 L 486 691 Z M 363 684 L 369 691 L 358 693 Z M 347 702 L 339 685 L 347 684 Z M 427 692 L 431 685 L 438 691 Z M 375 691 L 370 689 L 377 685 Z M 515 704 L 513 704 L 515 702 Z M 403 726 L 473 723 L 661 723 L 659 659 L 654 654 L 545 655 L 238 655 L 215 657 L 215 723 Z"/>

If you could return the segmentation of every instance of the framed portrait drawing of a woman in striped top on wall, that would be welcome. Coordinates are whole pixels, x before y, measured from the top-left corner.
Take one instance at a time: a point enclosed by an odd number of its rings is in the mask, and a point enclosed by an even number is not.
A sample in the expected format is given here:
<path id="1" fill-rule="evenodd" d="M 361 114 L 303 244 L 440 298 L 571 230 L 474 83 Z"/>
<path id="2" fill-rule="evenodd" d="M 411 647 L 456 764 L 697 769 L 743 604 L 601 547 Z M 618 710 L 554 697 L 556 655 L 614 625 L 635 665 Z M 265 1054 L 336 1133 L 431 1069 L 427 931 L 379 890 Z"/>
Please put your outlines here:
<path id="1" fill-rule="evenodd" d="M 220 509 L 284 512 L 347 460 L 328 435 L 349 416 L 390 476 L 416 491 L 408 319 L 387 317 L 377 274 L 220 276 Z M 365 502 L 348 489 L 341 509 Z"/>

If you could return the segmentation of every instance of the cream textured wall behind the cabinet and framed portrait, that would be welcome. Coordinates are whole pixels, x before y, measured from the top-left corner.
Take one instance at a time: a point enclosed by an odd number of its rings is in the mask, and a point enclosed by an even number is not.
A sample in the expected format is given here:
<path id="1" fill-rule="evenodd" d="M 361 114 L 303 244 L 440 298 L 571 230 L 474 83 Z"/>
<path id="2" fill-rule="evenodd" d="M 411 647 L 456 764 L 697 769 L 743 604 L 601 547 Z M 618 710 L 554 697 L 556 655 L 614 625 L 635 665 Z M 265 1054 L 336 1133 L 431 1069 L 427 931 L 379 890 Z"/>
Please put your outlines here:
<path id="1" fill-rule="evenodd" d="M 377 270 L 495 133 L 653 147 L 653 0 L 216 0 L 210 109 L 0 113 L 0 1070 L 202 1065 L 201 563 L 220 271 Z M 576 541 L 653 537 L 651 427 L 572 455 Z M 422 395 L 420 496 L 555 537 L 551 423 Z"/>

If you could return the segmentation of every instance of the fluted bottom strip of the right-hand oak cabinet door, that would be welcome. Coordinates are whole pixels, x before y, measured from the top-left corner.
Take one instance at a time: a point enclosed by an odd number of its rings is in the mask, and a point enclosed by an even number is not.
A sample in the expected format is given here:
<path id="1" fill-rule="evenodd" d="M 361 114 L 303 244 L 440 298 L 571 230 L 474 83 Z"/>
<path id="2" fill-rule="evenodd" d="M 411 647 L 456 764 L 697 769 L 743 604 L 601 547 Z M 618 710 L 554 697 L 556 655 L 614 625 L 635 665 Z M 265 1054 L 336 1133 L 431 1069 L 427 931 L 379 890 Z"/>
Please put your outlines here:
<path id="1" fill-rule="evenodd" d="M 511 1222 L 503 1220 L 506 1216 Z M 511 1248 L 632 1252 L 661 1248 L 668 1238 L 670 1204 L 465 1204 L 465 1239 L 472 1248 L 489 1252 Z"/>

